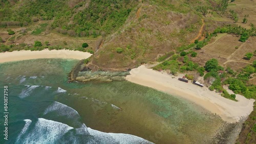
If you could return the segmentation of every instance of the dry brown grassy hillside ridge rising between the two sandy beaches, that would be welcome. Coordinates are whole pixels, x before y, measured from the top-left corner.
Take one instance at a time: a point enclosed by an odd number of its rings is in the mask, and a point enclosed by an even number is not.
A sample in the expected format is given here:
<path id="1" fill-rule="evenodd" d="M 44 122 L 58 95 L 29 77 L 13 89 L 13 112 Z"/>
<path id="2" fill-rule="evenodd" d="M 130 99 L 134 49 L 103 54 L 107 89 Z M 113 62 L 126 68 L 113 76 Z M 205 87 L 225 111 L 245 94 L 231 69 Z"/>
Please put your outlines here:
<path id="1" fill-rule="evenodd" d="M 93 70 L 134 68 L 194 39 L 203 39 L 206 27 L 211 32 L 225 23 L 203 20 L 192 10 L 181 13 L 144 2 L 131 12 L 120 31 L 105 37 L 87 66 Z M 123 52 L 117 53 L 117 47 Z"/>

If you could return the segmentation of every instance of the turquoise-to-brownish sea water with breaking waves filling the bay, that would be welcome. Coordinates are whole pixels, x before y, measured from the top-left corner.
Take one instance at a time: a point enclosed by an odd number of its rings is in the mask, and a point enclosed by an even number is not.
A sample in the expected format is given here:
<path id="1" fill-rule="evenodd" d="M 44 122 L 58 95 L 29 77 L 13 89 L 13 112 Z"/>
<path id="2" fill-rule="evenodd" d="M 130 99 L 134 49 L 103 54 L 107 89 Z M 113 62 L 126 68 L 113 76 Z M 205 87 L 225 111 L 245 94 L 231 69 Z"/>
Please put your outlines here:
<path id="1" fill-rule="evenodd" d="M 9 87 L 9 136 L 0 143 L 205 143 L 222 124 L 188 101 L 127 81 L 67 83 L 77 62 L 0 64 L 1 93 Z"/>

